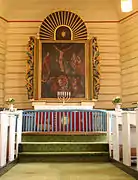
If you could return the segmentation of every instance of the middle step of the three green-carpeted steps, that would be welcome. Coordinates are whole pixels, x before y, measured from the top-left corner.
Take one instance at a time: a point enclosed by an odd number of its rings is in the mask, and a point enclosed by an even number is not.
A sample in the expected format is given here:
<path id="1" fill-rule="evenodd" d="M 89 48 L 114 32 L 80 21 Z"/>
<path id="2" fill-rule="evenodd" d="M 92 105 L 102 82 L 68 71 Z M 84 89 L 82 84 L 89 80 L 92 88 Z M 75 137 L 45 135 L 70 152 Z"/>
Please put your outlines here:
<path id="1" fill-rule="evenodd" d="M 99 152 L 109 151 L 108 143 L 85 142 L 46 142 L 23 143 L 19 145 L 19 152 Z"/>

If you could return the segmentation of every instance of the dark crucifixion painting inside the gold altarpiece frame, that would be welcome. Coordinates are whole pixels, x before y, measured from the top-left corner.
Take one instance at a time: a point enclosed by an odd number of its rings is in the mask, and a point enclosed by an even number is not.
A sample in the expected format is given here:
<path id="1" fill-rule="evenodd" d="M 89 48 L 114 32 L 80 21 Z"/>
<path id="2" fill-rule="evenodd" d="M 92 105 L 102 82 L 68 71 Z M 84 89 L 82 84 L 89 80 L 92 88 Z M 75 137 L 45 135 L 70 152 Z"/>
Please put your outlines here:
<path id="1" fill-rule="evenodd" d="M 57 98 L 70 92 L 71 98 L 86 97 L 85 42 L 41 42 L 40 98 Z"/>

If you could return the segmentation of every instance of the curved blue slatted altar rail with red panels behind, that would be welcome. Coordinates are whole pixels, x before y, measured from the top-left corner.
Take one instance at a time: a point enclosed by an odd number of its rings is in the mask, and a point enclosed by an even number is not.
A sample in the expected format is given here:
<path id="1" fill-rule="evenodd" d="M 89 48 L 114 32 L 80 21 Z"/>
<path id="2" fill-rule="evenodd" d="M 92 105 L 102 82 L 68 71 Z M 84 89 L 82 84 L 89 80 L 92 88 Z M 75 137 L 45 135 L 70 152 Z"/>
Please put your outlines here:
<path id="1" fill-rule="evenodd" d="M 104 110 L 25 110 L 23 132 L 107 131 Z"/>

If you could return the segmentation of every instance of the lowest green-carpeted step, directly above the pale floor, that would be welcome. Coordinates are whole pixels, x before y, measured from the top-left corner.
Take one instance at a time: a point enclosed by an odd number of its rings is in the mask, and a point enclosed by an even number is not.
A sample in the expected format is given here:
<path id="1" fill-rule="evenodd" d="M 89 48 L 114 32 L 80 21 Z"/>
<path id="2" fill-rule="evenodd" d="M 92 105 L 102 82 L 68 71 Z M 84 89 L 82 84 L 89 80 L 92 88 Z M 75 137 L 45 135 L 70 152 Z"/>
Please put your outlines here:
<path id="1" fill-rule="evenodd" d="M 108 152 L 23 152 L 19 163 L 29 162 L 109 162 Z"/>

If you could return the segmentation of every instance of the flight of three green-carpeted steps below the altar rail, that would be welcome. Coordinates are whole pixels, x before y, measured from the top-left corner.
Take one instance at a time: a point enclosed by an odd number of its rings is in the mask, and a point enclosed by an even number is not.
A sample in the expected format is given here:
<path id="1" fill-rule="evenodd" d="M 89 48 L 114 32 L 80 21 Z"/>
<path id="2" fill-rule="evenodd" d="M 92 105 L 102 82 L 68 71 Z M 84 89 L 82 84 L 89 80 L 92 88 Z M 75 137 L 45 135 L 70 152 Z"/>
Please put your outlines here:
<path id="1" fill-rule="evenodd" d="M 107 135 L 23 134 L 19 162 L 107 162 Z"/>

